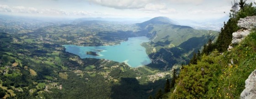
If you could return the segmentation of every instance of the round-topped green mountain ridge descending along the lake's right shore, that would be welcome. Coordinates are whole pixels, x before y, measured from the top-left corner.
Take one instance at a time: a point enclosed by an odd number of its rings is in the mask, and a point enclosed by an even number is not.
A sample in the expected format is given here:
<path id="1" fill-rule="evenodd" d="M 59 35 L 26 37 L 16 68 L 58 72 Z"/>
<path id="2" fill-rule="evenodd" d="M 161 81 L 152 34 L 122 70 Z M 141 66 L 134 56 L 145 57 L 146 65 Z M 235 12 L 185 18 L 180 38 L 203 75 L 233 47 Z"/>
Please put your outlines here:
<path id="1" fill-rule="evenodd" d="M 140 26 L 151 40 L 142 44 L 153 60 L 148 66 L 161 69 L 187 63 L 193 52 L 202 49 L 209 39 L 214 40 L 218 36 L 217 31 L 174 25 L 165 17 L 156 17 L 136 25 Z"/>

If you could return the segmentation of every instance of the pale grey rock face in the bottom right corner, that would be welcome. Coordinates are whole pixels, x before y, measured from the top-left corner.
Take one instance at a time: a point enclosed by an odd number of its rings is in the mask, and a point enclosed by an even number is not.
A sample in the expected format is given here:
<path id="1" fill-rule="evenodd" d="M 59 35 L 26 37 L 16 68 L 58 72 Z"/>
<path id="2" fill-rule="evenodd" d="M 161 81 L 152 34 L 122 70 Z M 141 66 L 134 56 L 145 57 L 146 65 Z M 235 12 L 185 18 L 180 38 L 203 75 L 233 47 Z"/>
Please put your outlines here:
<path id="1" fill-rule="evenodd" d="M 256 70 L 245 80 L 245 89 L 240 94 L 241 99 L 256 99 Z"/>

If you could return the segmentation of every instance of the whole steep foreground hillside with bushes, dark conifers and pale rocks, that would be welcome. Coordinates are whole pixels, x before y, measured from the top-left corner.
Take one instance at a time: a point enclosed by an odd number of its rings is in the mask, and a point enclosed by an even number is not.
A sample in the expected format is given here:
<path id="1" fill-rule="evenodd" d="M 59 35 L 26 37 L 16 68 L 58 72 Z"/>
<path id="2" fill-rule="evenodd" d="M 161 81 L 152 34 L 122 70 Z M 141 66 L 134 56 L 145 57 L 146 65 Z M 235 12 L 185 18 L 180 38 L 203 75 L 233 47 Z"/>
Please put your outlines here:
<path id="1" fill-rule="evenodd" d="M 182 67 L 170 99 L 240 99 L 255 95 L 249 95 L 248 92 L 254 91 L 251 89 L 241 94 L 245 80 L 256 68 L 255 16 L 256 7 L 252 3 L 232 15 L 213 48 L 207 49 L 210 53 L 202 57 L 199 54 L 196 63 Z M 250 35 L 246 36 L 245 31 L 251 31 Z M 228 46 L 229 51 L 225 49 Z"/>

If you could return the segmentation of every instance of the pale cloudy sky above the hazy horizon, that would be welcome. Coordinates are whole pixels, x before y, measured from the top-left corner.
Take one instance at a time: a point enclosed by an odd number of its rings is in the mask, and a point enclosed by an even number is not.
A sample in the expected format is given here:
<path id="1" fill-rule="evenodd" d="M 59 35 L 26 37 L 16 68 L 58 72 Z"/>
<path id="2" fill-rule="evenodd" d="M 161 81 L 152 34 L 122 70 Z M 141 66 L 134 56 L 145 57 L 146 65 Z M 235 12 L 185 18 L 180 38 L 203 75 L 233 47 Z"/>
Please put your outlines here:
<path id="1" fill-rule="evenodd" d="M 234 0 L 0 0 L 0 14 L 50 17 L 212 19 Z M 247 0 L 255 2 L 255 0 Z"/>

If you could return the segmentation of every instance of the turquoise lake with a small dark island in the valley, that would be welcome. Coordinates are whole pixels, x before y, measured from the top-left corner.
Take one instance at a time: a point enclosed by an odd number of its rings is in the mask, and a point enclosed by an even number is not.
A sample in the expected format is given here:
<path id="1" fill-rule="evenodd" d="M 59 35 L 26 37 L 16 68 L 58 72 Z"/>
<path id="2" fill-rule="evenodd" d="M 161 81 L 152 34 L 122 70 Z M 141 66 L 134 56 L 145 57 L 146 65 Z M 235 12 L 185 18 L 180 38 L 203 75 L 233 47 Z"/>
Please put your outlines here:
<path id="1" fill-rule="evenodd" d="M 66 52 L 79 55 L 81 58 L 98 58 L 108 59 L 117 62 L 124 62 L 130 67 L 136 68 L 139 66 L 151 63 L 150 58 L 146 54 L 146 49 L 140 44 L 149 42 L 145 36 L 131 37 L 128 41 L 121 42 L 115 46 L 76 46 L 64 45 Z M 102 51 L 98 51 L 102 50 Z M 96 52 L 99 56 L 88 55 L 86 52 Z"/>

